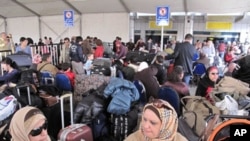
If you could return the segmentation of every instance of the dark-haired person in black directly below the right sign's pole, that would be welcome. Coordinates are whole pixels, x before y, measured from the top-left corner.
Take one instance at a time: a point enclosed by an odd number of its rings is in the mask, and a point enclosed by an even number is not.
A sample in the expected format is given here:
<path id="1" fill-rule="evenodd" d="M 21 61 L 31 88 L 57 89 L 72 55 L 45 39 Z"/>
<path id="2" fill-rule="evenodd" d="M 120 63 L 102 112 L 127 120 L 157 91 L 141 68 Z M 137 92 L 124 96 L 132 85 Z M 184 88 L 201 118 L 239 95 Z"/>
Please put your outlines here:
<path id="1" fill-rule="evenodd" d="M 157 55 L 155 62 L 152 64 L 152 66 L 156 67 L 158 69 L 157 74 L 155 75 L 159 84 L 162 85 L 166 81 L 166 68 L 163 65 L 164 58 L 162 55 Z"/>

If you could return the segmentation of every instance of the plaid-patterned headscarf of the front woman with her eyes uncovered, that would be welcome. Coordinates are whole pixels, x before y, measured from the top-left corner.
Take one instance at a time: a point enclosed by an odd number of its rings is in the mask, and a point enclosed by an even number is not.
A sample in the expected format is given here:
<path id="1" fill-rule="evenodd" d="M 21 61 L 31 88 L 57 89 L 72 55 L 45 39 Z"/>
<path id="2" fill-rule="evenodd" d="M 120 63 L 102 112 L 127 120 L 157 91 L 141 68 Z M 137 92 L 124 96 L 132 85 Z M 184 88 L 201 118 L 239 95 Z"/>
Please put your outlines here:
<path id="1" fill-rule="evenodd" d="M 162 108 L 158 108 L 159 103 L 164 106 Z M 162 123 L 160 134 L 157 139 L 164 141 L 173 141 L 177 134 L 178 127 L 178 116 L 175 112 L 175 109 L 167 101 L 157 99 L 154 100 L 154 102 L 144 106 L 143 111 L 145 111 L 146 109 L 151 109 L 152 107 L 155 108 L 155 110 L 152 110 L 153 112 L 158 112 L 156 113 L 156 115 L 160 116 L 160 120 Z"/>

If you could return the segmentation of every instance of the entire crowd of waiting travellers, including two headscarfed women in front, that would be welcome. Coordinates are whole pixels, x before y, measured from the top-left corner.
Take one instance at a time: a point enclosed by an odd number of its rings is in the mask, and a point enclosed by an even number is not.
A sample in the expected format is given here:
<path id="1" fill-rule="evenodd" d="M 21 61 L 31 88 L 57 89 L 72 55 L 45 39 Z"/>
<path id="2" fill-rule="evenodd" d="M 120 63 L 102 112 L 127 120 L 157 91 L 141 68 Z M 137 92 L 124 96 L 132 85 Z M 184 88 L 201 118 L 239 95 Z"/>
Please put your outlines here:
<path id="1" fill-rule="evenodd" d="M 41 39 L 39 44 L 52 44 L 52 39 Z M 227 72 L 223 75 L 233 76 L 239 66 L 235 61 L 240 59 L 241 49 L 235 42 L 227 45 L 224 42 L 215 45 L 207 40 L 201 43 L 197 41 L 193 45 L 193 36 L 187 34 L 181 43 L 172 42 L 166 50 L 161 51 L 157 44 L 153 44 L 152 39 L 144 43 L 141 39 L 135 44 L 133 42 L 124 43 L 120 37 L 116 37 L 113 42 L 111 54 L 106 54 L 105 47 L 101 39 L 81 36 L 74 36 L 71 40 L 66 37 L 62 42 L 60 50 L 60 65 L 52 64 L 50 53 L 33 54 L 32 69 L 42 72 L 49 71 L 53 76 L 64 73 L 69 78 L 74 88 L 75 75 L 91 75 L 93 60 L 108 57 L 112 63 L 116 64 L 118 70 L 122 72 L 123 78 L 129 81 L 139 80 L 146 89 L 146 104 L 142 110 L 140 127 L 137 131 L 129 135 L 125 140 L 162 140 L 162 141 L 186 141 L 187 139 L 177 132 L 178 112 L 166 100 L 158 99 L 158 91 L 161 87 L 173 88 L 180 98 L 192 95 L 189 90 L 190 80 L 193 76 L 195 64 L 204 64 L 206 73 L 199 81 L 195 94 L 206 97 L 208 93 L 218 83 L 220 78 L 220 66 L 224 65 Z M 172 51 L 169 51 L 171 49 Z M 247 49 L 246 49 L 247 50 Z M 31 53 L 29 42 L 26 38 L 20 38 L 20 44 L 15 48 L 15 52 Z M 138 56 L 127 58 L 127 54 L 133 51 L 155 54 L 152 62 L 138 62 Z M 173 68 L 170 69 L 164 62 L 174 60 Z M 219 61 L 218 61 L 219 60 Z M 10 58 L 4 58 L 1 62 L 4 70 L 0 77 L 2 85 L 18 82 L 17 64 Z M 130 68 L 130 69 L 127 69 Z M 224 70 L 224 69 L 223 69 Z M 151 98 L 154 98 L 151 101 Z M 179 102 L 179 101 L 178 101 Z M 13 116 L 10 123 L 10 134 L 13 140 L 36 141 L 51 140 L 47 133 L 47 121 L 39 109 L 34 107 L 24 107 L 19 109 Z"/>

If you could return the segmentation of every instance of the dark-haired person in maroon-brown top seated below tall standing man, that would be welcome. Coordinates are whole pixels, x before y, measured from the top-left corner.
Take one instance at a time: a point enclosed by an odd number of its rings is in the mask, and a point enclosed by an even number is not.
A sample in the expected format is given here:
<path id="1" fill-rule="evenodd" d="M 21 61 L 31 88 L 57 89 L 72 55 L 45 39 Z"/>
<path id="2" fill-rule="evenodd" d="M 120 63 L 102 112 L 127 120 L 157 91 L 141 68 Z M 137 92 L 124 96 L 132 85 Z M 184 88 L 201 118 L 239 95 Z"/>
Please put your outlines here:
<path id="1" fill-rule="evenodd" d="M 163 86 L 169 86 L 173 88 L 181 97 L 190 95 L 189 88 L 186 83 L 182 81 L 184 71 L 182 66 L 175 66 L 173 71 L 168 74 L 167 81 Z"/>

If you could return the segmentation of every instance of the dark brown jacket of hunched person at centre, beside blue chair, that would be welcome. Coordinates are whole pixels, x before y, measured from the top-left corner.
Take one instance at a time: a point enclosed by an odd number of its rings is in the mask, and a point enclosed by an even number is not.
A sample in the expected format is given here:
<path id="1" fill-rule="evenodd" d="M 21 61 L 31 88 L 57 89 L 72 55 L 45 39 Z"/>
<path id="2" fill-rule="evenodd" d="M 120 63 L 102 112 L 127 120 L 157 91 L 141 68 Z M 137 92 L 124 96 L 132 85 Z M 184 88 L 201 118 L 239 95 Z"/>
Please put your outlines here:
<path id="1" fill-rule="evenodd" d="M 140 80 L 146 89 L 147 100 L 150 96 L 158 97 L 160 85 L 155 77 L 157 71 L 157 68 L 149 67 L 135 74 L 134 80 Z"/>

